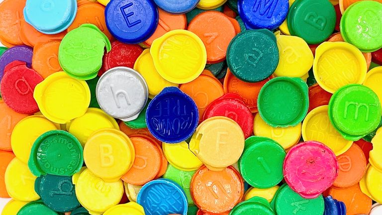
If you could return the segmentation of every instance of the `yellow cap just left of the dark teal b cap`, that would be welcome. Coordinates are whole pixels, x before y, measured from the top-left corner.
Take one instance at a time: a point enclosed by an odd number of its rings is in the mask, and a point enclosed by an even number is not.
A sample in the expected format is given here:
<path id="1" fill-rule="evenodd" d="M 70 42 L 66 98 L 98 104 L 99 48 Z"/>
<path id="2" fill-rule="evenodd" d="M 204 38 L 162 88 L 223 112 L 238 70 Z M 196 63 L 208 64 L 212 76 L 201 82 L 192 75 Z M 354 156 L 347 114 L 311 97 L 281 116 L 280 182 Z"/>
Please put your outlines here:
<path id="1" fill-rule="evenodd" d="M 9 196 L 18 201 L 31 202 L 40 199 L 34 191 L 36 181 L 28 166 L 17 158 L 8 164 L 5 170 L 4 181 Z"/>

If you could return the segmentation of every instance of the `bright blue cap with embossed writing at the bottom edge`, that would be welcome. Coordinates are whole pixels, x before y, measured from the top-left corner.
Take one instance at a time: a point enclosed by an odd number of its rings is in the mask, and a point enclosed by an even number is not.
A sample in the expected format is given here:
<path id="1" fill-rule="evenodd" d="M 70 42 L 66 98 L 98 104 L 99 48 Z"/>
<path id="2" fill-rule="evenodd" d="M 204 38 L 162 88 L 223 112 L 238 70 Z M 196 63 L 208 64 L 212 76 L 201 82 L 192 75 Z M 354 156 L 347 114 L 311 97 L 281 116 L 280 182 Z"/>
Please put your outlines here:
<path id="1" fill-rule="evenodd" d="M 185 191 L 169 179 L 157 179 L 145 184 L 138 193 L 137 203 L 146 215 L 187 215 L 188 204 Z"/>

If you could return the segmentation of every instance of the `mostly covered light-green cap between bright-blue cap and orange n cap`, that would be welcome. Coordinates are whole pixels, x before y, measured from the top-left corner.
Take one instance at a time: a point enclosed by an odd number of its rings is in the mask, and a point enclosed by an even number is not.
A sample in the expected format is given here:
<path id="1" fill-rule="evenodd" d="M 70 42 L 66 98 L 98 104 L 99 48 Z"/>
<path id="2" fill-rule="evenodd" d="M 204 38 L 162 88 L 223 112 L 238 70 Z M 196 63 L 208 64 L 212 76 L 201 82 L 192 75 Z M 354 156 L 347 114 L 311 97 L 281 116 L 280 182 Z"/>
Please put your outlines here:
<path id="1" fill-rule="evenodd" d="M 190 186 L 191 186 L 192 176 L 193 174 L 195 174 L 195 172 L 196 171 L 189 171 L 189 172 L 182 171 L 175 168 L 172 165 L 169 165 L 167 167 L 166 173 L 163 175 L 164 179 L 172 180 L 182 187 L 182 189 L 185 191 L 189 206 L 193 205 Z"/>

